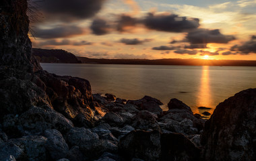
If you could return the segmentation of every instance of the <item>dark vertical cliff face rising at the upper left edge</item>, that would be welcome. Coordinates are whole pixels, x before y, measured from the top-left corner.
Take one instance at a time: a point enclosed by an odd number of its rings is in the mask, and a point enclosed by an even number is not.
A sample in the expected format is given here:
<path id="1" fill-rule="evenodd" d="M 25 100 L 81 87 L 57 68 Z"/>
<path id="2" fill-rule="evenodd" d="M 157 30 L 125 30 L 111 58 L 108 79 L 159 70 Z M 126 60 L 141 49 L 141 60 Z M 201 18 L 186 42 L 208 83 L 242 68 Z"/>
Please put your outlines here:
<path id="1" fill-rule="evenodd" d="M 3 0 L 0 5 L 0 64 L 25 71 L 41 69 L 31 54 L 26 0 Z"/>

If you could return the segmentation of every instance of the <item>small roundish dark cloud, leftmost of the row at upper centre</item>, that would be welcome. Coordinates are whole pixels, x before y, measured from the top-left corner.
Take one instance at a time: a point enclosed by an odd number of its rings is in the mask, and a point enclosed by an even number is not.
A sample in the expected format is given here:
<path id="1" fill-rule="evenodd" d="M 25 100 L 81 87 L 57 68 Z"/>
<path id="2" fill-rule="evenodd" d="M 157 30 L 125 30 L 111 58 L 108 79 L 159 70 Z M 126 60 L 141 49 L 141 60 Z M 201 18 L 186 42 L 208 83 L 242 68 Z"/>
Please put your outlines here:
<path id="1" fill-rule="evenodd" d="M 92 21 L 92 25 L 90 26 L 93 34 L 98 36 L 108 34 L 112 29 L 112 27 L 108 24 L 108 22 L 104 19 L 94 19 Z"/>

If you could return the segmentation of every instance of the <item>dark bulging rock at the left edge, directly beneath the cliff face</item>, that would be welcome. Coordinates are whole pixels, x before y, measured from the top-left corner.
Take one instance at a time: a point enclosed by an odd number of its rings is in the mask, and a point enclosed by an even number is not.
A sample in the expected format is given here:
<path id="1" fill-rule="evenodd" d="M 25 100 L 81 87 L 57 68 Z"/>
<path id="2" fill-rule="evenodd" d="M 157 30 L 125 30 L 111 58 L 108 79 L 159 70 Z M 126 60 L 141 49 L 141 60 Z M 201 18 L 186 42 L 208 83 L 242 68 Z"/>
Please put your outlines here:
<path id="1" fill-rule="evenodd" d="M 32 105 L 49 105 L 46 93 L 29 80 L 10 77 L 0 80 L 0 117 L 20 114 Z"/>

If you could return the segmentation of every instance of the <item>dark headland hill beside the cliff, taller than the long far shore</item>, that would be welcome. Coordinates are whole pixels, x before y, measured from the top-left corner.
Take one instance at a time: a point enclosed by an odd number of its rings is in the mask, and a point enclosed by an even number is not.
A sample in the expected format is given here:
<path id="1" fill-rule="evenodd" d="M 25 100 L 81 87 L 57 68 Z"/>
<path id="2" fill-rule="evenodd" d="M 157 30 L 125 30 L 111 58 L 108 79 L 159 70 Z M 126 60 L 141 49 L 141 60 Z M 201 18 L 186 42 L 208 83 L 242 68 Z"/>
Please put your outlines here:
<path id="1" fill-rule="evenodd" d="M 36 56 L 39 62 L 54 62 L 54 63 L 81 63 L 77 60 L 74 54 L 61 49 L 40 49 L 33 48 L 32 54 Z"/>

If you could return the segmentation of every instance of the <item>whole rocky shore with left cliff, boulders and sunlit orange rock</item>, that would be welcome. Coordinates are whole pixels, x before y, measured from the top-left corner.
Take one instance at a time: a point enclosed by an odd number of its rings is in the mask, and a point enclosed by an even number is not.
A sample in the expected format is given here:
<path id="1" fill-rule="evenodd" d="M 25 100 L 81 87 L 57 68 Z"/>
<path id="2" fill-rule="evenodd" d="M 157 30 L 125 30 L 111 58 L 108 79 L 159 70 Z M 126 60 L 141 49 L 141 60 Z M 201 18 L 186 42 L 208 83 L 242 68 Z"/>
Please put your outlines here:
<path id="1" fill-rule="evenodd" d="M 178 99 L 92 95 L 31 54 L 26 0 L 0 3 L 0 160 L 256 160 L 256 89 L 209 120 Z"/>

